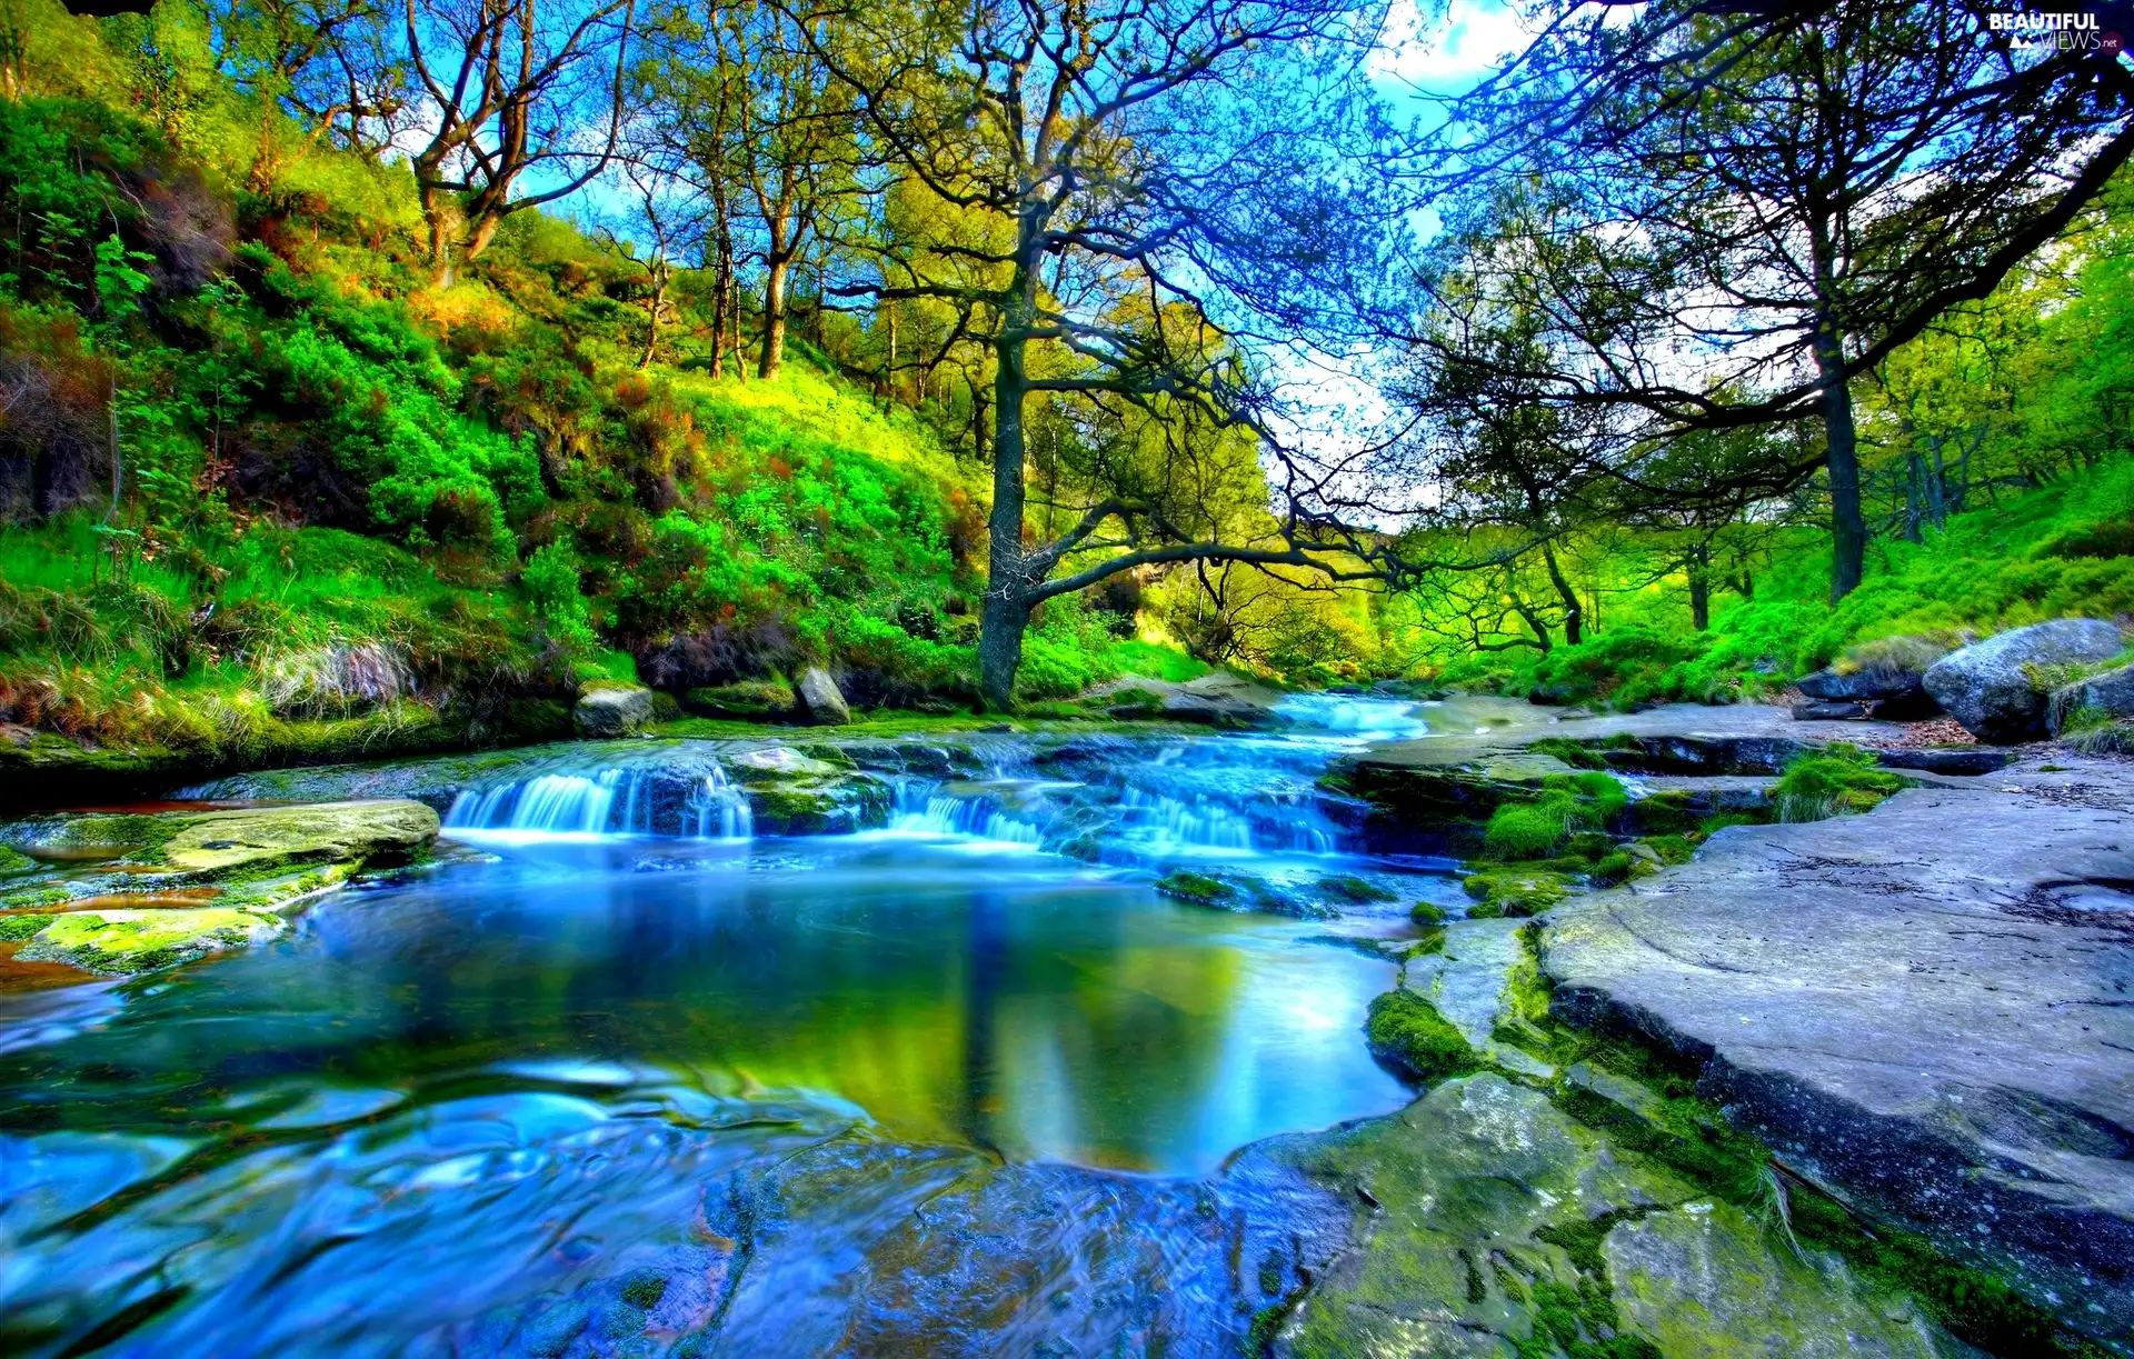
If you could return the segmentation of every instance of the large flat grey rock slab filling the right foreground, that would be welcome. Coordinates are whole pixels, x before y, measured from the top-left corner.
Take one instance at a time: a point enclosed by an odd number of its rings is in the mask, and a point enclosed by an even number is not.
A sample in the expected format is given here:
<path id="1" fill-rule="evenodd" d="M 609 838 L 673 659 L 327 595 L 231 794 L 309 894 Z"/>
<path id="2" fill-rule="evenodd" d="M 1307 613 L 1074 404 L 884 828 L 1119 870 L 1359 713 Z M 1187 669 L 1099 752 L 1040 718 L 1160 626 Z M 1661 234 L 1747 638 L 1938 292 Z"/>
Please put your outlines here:
<path id="1" fill-rule="evenodd" d="M 2134 1342 L 2134 766 L 1733 828 L 1560 907 L 1573 1020 L 1703 1062 L 1801 1173 Z"/>

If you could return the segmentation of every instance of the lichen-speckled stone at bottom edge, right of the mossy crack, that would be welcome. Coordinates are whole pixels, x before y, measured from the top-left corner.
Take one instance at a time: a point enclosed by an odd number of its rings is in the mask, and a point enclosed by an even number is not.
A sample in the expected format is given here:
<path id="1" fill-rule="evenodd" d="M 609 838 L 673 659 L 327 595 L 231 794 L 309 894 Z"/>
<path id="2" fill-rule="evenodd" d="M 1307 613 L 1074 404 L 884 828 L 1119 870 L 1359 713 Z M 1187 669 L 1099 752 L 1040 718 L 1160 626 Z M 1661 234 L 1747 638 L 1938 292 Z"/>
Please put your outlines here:
<path id="1" fill-rule="evenodd" d="M 1827 1254 L 1773 1250 L 1722 1201 L 1618 1222 L 1600 1242 L 1615 1310 L 1667 1359 L 1931 1359 L 1936 1336 L 1908 1301 L 1867 1295 Z"/>

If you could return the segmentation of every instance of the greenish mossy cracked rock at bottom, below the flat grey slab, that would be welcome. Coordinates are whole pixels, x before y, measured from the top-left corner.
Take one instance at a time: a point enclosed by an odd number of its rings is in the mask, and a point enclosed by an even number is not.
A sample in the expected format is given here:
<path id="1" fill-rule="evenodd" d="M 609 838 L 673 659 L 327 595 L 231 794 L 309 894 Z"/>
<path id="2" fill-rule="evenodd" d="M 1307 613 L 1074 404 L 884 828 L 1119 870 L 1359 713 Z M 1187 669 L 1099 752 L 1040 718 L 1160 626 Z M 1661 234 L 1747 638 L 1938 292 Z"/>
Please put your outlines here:
<path id="1" fill-rule="evenodd" d="M 1357 1208 L 1357 1244 L 1274 1340 L 1285 1359 L 1603 1353 L 1581 1321 L 1690 1346 L 1662 1344 L 1669 1359 L 1844 1355 L 1854 1336 L 1861 1353 L 1936 1353 L 1901 1301 L 1869 1297 L 1835 1261 L 1773 1259 L 1761 1225 L 1494 1073 L 1449 1080 L 1391 1118 L 1280 1139 L 1272 1154 Z M 1767 1276 L 1743 1269 L 1763 1259 Z M 1767 1348 L 1773 1333 L 1793 1348 Z"/>

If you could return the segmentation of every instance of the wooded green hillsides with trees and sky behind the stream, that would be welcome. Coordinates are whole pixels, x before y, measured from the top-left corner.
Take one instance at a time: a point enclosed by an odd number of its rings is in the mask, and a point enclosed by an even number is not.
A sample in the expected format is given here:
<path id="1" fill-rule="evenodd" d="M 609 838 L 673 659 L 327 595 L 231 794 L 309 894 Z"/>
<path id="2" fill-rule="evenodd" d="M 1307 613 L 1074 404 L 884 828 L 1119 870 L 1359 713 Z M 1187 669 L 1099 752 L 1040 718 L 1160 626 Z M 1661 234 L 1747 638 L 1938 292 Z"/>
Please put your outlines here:
<path id="1" fill-rule="evenodd" d="M 11 0 L 0 708 L 1726 702 L 2123 612 L 2125 75 L 1974 19 L 1571 11 L 1447 94 L 1349 0 Z"/>

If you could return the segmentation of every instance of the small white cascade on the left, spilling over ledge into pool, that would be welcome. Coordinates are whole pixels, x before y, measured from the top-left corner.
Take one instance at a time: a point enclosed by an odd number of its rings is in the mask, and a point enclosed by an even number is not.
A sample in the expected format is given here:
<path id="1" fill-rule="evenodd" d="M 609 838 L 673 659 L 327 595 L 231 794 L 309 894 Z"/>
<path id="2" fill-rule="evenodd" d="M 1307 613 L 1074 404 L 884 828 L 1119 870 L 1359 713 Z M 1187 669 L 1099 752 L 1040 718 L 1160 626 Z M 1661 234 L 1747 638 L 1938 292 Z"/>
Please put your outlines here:
<path id="1" fill-rule="evenodd" d="M 755 834 L 749 800 L 713 764 L 681 796 L 674 815 L 664 798 L 676 779 L 657 768 L 602 768 L 551 772 L 465 789 L 444 813 L 446 830 L 519 832 L 540 836 L 679 834 L 706 841 L 747 841 Z"/>

